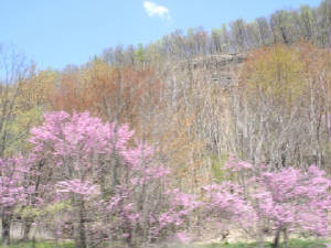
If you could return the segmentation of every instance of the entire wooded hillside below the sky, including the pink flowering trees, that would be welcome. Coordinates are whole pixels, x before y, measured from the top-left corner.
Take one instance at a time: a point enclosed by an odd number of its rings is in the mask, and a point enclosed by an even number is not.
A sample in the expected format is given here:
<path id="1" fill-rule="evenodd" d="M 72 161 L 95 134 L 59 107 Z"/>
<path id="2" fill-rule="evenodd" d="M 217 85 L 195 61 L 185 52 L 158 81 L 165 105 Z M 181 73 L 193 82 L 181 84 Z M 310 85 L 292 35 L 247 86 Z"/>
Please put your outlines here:
<path id="1" fill-rule="evenodd" d="M 2 246 L 327 247 L 330 11 L 179 30 L 61 71 L 1 46 Z"/>

